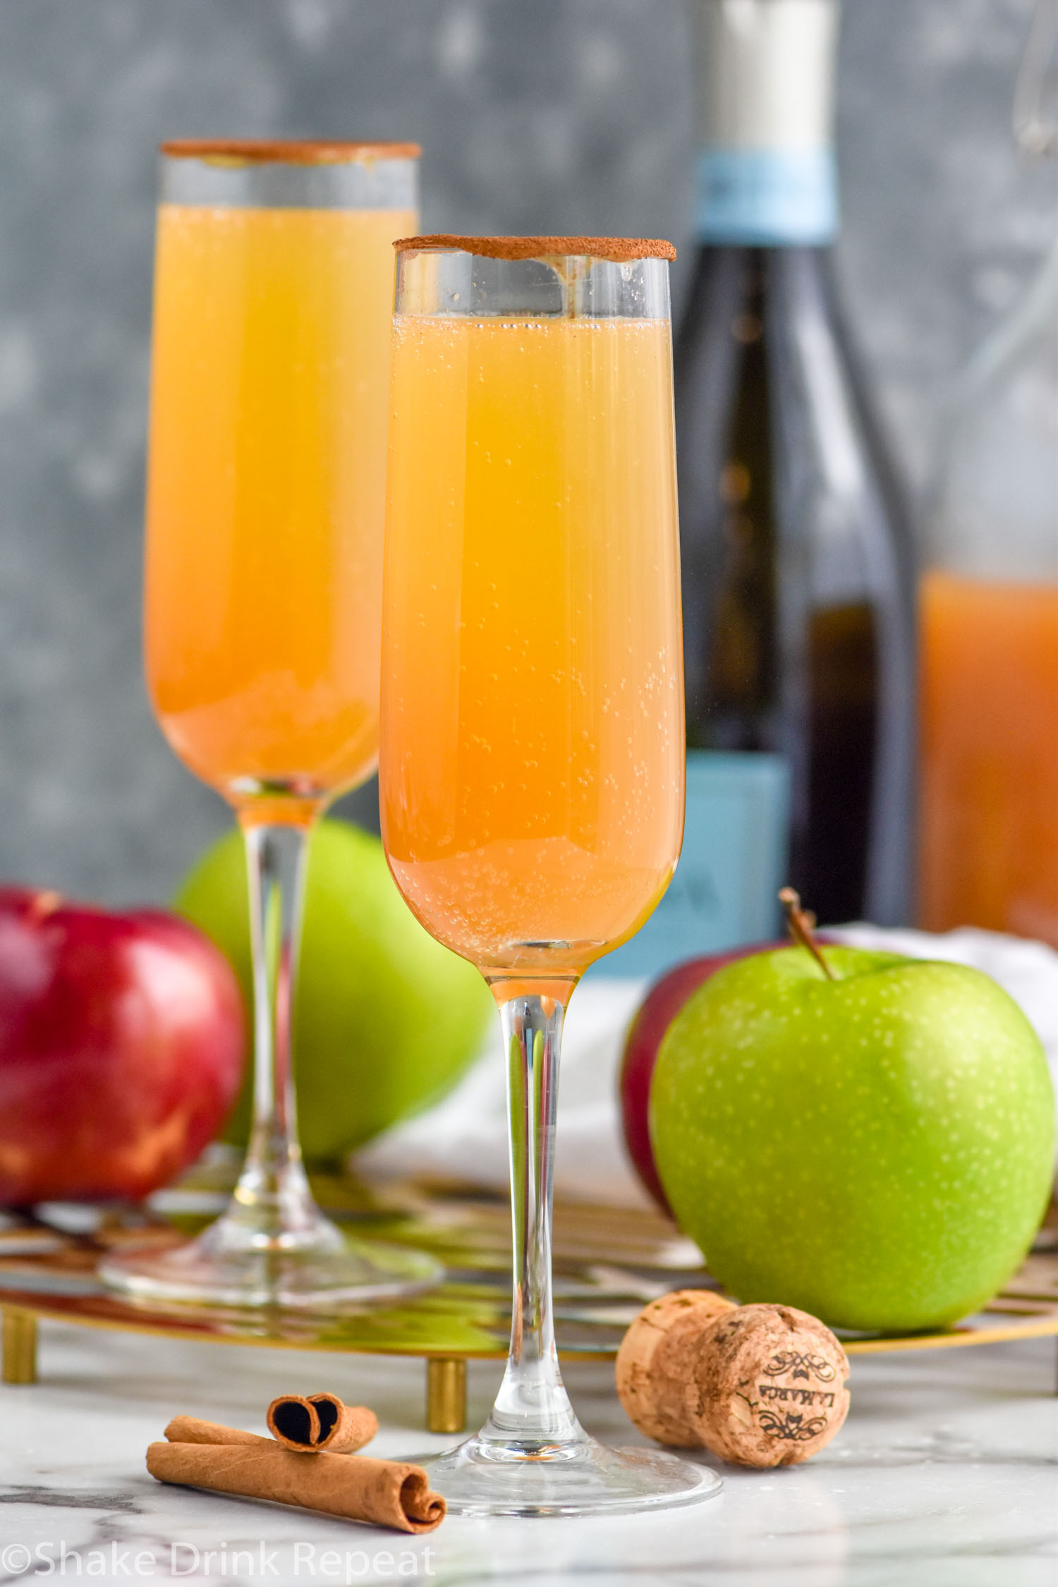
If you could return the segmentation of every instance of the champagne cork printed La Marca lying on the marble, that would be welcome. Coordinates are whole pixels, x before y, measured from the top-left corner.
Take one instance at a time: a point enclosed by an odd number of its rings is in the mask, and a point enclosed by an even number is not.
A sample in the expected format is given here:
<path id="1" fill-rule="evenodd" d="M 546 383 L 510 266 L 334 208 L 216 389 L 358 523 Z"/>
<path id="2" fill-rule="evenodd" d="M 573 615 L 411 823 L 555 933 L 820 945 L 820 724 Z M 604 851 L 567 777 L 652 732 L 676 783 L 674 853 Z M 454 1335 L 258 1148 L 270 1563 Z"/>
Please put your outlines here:
<path id="1" fill-rule="evenodd" d="M 617 1355 L 617 1393 L 641 1433 L 701 1446 L 733 1465 L 788 1466 L 849 1412 L 849 1360 L 793 1306 L 733 1306 L 676 1290 L 636 1317 Z"/>

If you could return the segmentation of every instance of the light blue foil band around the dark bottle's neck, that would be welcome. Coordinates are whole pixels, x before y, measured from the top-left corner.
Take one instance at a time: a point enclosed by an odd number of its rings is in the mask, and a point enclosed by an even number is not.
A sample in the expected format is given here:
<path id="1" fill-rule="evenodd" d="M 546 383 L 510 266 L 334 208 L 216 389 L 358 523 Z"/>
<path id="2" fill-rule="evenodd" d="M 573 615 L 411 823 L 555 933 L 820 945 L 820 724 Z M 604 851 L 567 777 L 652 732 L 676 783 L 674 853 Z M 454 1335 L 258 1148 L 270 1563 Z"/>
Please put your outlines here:
<path id="1" fill-rule="evenodd" d="M 704 148 L 698 157 L 698 238 L 793 248 L 838 230 L 833 149 Z"/>

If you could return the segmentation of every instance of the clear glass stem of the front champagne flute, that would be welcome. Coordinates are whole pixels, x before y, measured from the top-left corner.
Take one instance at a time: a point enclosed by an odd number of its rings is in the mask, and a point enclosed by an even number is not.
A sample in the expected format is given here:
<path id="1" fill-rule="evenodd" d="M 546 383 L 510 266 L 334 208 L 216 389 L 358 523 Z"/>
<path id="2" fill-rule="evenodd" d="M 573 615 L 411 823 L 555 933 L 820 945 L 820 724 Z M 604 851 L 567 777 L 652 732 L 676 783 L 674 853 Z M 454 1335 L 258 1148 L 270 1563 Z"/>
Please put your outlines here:
<path id="1" fill-rule="evenodd" d="M 481 1439 L 538 1449 L 584 1438 L 558 1371 L 550 1298 L 558 1052 L 565 1005 L 555 997 L 506 1000 L 508 1122 L 514 1293 L 511 1354 Z"/>

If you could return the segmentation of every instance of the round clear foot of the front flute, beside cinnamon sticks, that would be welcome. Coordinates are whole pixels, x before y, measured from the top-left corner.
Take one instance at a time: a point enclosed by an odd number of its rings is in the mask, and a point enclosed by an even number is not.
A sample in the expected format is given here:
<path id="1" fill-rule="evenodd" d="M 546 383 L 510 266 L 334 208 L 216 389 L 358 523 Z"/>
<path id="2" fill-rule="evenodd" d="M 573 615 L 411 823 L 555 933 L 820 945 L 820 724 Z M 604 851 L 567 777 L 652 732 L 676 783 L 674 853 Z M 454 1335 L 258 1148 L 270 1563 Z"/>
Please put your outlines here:
<path id="1" fill-rule="evenodd" d="M 709 1466 L 658 1449 L 608 1449 L 587 1433 L 558 1444 L 468 1438 L 417 1460 L 454 1516 L 617 1516 L 715 1498 Z"/>

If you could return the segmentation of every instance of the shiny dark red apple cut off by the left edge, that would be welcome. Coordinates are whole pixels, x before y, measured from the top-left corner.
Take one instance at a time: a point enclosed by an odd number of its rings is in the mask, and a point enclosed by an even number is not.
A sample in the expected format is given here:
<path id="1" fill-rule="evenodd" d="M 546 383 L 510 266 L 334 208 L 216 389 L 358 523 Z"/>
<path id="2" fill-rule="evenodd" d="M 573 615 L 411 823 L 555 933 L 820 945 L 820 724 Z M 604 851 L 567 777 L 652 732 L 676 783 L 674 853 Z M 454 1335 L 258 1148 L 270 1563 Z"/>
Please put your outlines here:
<path id="1" fill-rule="evenodd" d="M 246 1019 L 219 949 L 163 909 L 0 887 L 0 1203 L 140 1200 L 213 1139 Z"/>

